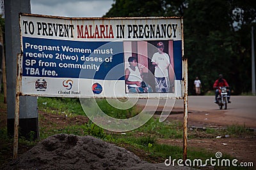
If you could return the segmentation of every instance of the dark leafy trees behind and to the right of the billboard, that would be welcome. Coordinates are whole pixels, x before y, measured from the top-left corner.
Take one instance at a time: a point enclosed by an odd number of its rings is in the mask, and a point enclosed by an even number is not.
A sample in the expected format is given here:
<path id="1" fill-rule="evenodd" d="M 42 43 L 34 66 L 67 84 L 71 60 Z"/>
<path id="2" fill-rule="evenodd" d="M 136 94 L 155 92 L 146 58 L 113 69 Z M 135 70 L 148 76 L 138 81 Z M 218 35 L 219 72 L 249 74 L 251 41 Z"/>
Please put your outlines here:
<path id="1" fill-rule="evenodd" d="M 188 57 L 189 94 L 199 76 L 203 94 L 212 90 L 218 74 L 233 94 L 250 92 L 251 28 L 256 26 L 256 3 L 241 0 L 115 0 L 104 17 L 184 18 L 184 53 Z M 255 34 L 254 34 L 255 39 Z"/>

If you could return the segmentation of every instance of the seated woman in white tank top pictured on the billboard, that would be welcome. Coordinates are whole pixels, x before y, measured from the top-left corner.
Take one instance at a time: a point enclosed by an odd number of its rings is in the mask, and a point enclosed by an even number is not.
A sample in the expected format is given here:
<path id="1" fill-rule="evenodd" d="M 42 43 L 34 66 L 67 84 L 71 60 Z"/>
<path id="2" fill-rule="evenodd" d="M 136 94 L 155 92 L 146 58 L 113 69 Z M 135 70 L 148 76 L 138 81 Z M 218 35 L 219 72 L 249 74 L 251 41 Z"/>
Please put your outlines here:
<path id="1" fill-rule="evenodd" d="M 128 62 L 130 64 L 125 69 L 125 83 L 128 85 L 128 90 L 131 93 L 147 93 L 152 92 L 152 88 L 147 85 L 142 77 L 141 71 L 138 68 L 138 63 L 135 57 L 129 57 Z"/>

